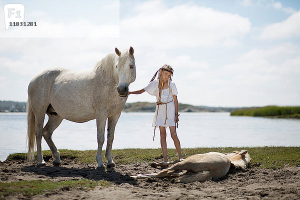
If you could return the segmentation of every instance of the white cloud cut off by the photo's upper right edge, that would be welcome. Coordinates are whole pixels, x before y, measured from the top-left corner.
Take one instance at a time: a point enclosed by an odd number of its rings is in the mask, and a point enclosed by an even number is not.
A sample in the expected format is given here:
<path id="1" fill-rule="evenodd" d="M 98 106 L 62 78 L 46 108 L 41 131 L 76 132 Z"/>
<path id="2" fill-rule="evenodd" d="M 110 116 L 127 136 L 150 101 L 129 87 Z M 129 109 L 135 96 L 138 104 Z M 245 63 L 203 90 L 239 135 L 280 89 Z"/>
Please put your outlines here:
<path id="1" fill-rule="evenodd" d="M 261 32 L 260 38 L 274 39 L 300 36 L 300 10 L 294 12 L 287 19 L 267 25 Z"/>

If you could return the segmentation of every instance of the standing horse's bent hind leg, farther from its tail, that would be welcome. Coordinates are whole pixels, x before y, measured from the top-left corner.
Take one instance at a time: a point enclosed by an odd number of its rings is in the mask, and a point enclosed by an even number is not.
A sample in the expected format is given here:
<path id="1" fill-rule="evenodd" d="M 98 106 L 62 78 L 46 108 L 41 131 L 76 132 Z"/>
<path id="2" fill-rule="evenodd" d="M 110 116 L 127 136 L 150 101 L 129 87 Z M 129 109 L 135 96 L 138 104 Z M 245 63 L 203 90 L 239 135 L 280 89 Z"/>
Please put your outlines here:
<path id="1" fill-rule="evenodd" d="M 49 119 L 47 124 L 45 125 L 45 127 L 42 130 L 42 135 L 44 137 L 44 139 L 46 140 L 51 152 L 52 152 L 52 163 L 54 166 L 58 166 L 60 165 L 60 153 L 57 150 L 54 142 L 52 141 L 52 133 L 53 131 L 58 127 L 58 125 L 61 123 L 62 121 L 62 117 L 59 115 L 50 115 L 48 114 Z"/>

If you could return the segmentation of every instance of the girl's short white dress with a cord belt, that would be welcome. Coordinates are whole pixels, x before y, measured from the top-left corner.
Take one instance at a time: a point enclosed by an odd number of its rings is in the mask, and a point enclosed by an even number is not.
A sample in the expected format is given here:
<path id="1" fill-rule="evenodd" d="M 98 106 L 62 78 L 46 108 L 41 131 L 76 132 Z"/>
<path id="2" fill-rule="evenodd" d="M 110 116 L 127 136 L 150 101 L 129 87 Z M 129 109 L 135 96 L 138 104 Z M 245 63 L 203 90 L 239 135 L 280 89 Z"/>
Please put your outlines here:
<path id="1" fill-rule="evenodd" d="M 144 88 L 149 94 L 156 96 L 158 101 L 159 89 L 158 89 L 158 80 L 155 79 Z M 152 126 L 175 126 L 175 104 L 173 100 L 173 95 L 176 95 L 177 88 L 175 83 L 168 81 L 168 88 L 161 90 L 161 102 L 169 102 L 166 104 L 156 105 L 155 114 L 153 117 Z M 165 121 L 165 106 L 166 106 L 166 121 Z M 158 109 L 158 112 L 157 112 Z M 157 114 L 157 117 L 156 117 Z M 165 121 L 165 124 L 164 124 Z"/>

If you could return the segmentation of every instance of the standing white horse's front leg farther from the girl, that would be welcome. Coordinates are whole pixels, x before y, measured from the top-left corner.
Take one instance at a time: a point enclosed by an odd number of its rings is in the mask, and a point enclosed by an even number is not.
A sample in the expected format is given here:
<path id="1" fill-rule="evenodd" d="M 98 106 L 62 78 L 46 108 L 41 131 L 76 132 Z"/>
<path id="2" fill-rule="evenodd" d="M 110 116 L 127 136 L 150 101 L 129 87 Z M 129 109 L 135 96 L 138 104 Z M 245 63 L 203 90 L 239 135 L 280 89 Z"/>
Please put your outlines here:
<path id="1" fill-rule="evenodd" d="M 102 162 L 102 146 L 104 143 L 104 130 L 105 130 L 106 117 L 97 116 L 96 122 L 97 122 L 97 141 L 98 141 L 98 149 L 96 155 L 96 161 L 98 163 L 97 168 L 105 168 Z"/>

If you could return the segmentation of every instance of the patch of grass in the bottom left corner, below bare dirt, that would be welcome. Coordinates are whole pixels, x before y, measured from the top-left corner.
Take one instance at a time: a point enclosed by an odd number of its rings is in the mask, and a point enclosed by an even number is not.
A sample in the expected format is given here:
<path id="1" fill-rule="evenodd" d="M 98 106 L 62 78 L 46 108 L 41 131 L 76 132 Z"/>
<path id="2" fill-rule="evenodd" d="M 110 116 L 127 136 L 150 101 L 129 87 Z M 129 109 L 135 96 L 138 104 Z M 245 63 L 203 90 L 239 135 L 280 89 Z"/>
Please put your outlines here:
<path id="1" fill-rule="evenodd" d="M 110 183 L 106 180 L 66 180 L 66 181 L 51 181 L 51 180 L 23 180 L 17 182 L 0 182 L 0 196 L 8 196 L 22 194 L 26 197 L 45 193 L 53 190 L 70 190 L 71 188 L 89 190 L 95 186 L 109 186 Z"/>

